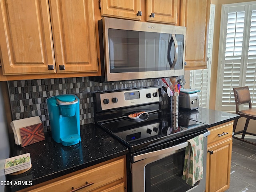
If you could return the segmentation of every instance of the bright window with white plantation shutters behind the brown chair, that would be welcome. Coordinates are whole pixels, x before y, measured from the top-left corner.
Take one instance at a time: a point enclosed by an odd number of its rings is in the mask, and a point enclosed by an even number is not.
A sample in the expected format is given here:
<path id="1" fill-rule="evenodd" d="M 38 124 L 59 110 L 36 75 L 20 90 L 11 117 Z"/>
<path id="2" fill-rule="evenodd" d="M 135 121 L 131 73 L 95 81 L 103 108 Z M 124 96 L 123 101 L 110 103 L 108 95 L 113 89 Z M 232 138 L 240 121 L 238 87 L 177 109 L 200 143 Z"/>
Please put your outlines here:
<path id="1" fill-rule="evenodd" d="M 234 112 L 234 87 L 249 86 L 256 106 L 256 2 L 222 5 L 216 110 Z"/>

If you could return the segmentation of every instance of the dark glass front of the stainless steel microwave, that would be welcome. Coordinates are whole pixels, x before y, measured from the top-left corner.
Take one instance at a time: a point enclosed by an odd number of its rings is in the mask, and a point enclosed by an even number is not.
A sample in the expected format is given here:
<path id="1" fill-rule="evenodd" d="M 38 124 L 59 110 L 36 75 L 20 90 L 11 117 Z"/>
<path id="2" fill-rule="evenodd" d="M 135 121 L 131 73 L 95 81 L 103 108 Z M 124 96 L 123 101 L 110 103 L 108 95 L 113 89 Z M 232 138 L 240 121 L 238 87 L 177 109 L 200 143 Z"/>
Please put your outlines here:
<path id="1" fill-rule="evenodd" d="M 175 48 L 172 34 L 108 29 L 110 73 L 170 70 Z M 183 67 L 184 35 L 176 35 L 178 59 L 174 69 Z"/>

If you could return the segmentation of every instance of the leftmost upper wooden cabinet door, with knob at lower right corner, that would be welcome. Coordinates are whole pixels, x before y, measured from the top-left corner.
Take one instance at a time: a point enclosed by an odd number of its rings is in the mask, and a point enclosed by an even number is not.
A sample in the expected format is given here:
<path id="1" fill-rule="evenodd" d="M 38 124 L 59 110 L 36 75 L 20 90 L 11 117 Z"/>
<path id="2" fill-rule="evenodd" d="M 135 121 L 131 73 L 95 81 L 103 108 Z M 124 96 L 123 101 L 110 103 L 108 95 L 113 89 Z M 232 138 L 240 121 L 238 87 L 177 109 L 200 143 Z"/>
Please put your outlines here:
<path id="1" fill-rule="evenodd" d="M 48 0 L 0 0 L 0 34 L 4 75 L 56 72 Z"/>

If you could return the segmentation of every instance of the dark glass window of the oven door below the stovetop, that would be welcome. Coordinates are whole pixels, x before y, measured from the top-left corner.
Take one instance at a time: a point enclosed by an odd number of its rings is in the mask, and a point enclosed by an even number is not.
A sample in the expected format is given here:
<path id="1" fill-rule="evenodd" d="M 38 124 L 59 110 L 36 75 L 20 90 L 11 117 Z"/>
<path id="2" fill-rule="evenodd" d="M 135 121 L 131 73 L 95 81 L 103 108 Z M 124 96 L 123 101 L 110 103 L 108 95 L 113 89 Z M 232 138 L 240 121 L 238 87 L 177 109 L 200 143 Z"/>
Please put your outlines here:
<path id="1" fill-rule="evenodd" d="M 193 188 L 182 180 L 185 150 L 145 166 L 145 191 L 186 192 Z M 197 182 L 195 186 L 198 184 Z"/>

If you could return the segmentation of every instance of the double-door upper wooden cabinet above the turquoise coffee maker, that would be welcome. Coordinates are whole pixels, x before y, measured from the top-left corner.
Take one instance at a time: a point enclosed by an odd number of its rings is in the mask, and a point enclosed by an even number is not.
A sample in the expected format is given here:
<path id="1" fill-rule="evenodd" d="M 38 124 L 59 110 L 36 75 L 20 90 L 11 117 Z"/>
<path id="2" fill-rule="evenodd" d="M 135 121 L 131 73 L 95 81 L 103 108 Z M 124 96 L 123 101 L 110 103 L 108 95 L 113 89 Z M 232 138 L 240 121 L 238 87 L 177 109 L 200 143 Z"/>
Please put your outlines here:
<path id="1" fill-rule="evenodd" d="M 93 0 L 0 0 L 0 34 L 3 75 L 98 70 Z"/>

